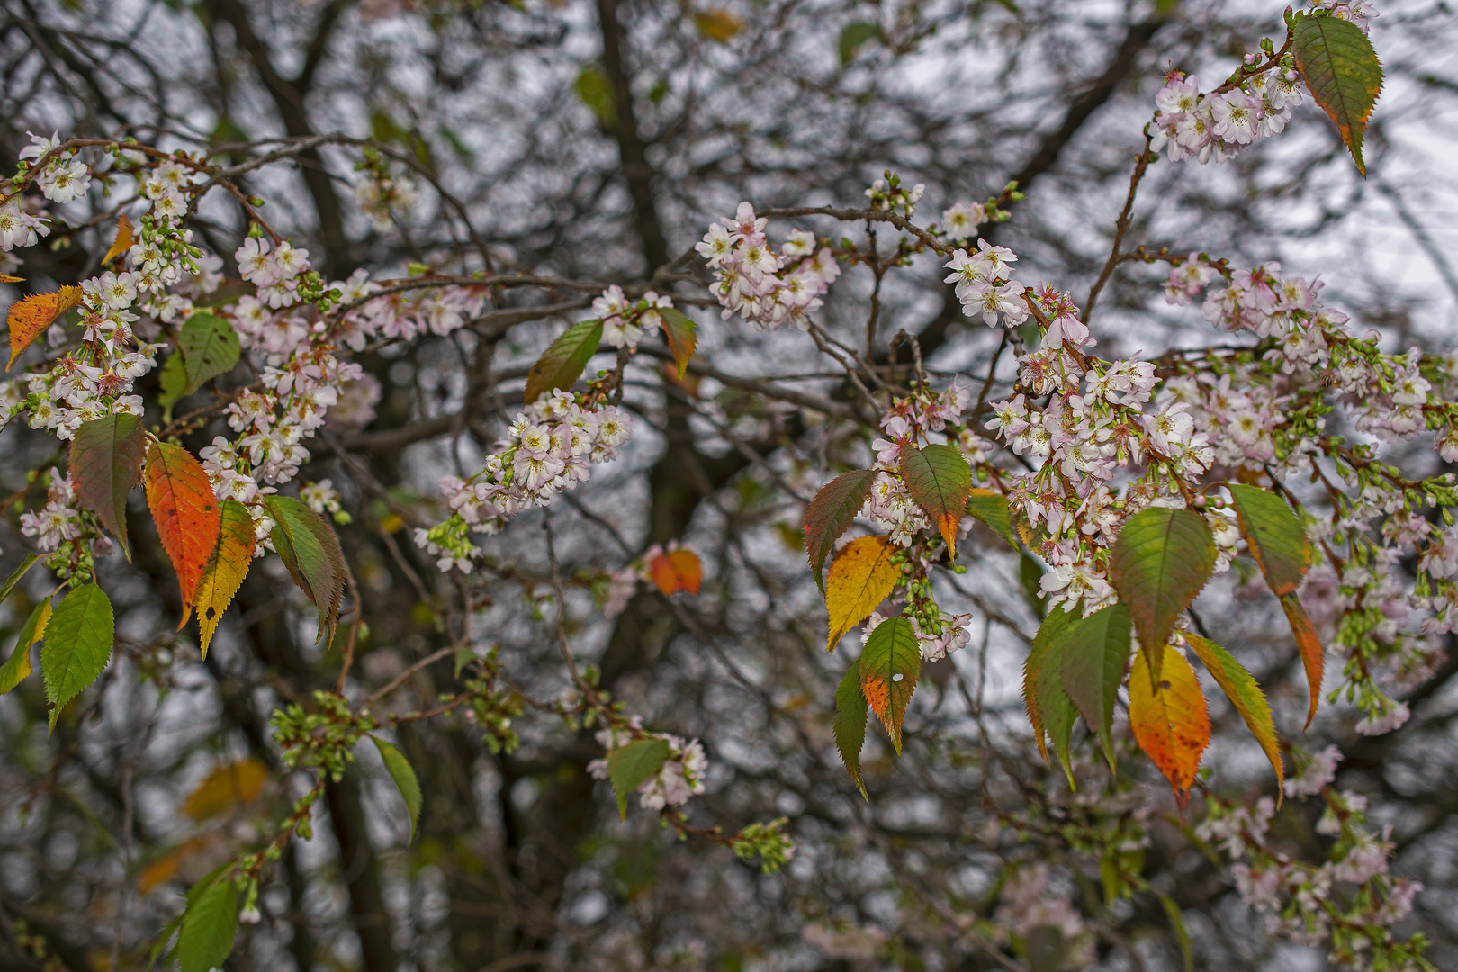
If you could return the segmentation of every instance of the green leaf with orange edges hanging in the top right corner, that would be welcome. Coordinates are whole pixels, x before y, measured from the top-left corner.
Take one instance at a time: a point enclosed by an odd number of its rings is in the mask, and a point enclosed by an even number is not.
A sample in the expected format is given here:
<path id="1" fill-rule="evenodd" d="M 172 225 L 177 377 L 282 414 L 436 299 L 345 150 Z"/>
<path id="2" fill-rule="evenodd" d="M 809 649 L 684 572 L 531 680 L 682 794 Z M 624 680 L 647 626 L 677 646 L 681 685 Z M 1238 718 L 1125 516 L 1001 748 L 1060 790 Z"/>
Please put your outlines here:
<path id="1" fill-rule="evenodd" d="M 1382 90 L 1382 63 L 1372 42 L 1354 23 L 1311 13 L 1296 20 L 1292 36 L 1296 67 L 1311 96 L 1337 124 L 1357 172 L 1366 178 L 1362 136 Z"/>

